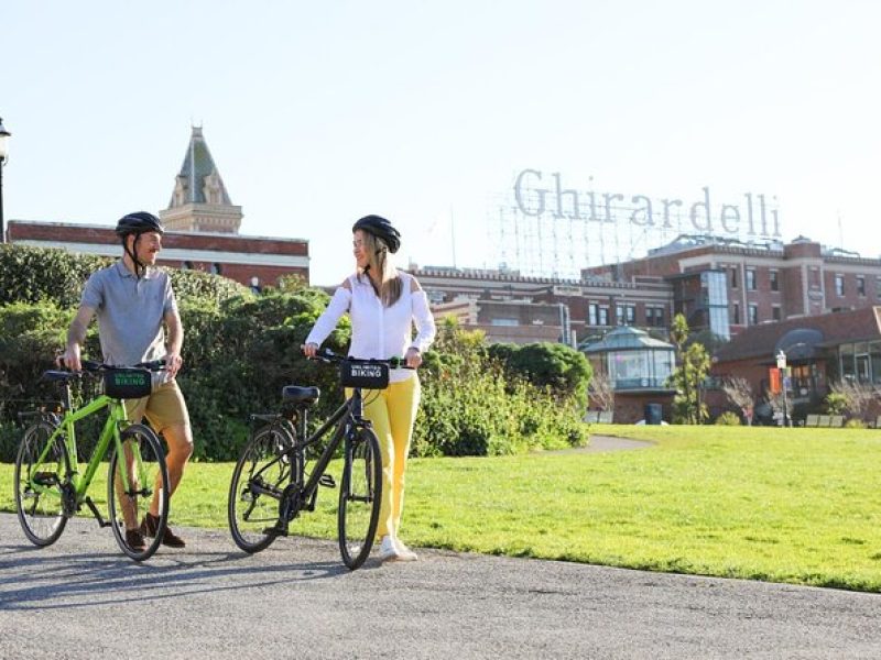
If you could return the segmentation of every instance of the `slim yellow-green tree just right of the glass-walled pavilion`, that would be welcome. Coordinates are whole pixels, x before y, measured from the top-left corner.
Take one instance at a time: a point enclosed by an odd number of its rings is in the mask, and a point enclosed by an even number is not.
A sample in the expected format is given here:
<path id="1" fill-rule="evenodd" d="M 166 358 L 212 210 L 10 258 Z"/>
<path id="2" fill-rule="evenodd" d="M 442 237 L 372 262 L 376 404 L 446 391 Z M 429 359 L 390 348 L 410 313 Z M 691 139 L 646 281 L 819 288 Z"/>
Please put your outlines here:
<path id="1" fill-rule="evenodd" d="M 700 400 L 700 385 L 710 367 L 709 353 L 704 344 L 688 342 L 688 321 L 682 314 L 673 318 L 670 338 L 676 345 L 678 366 L 670 377 L 676 388 L 673 398 L 673 417 L 682 424 L 701 424 L 709 417 L 706 404 Z"/>

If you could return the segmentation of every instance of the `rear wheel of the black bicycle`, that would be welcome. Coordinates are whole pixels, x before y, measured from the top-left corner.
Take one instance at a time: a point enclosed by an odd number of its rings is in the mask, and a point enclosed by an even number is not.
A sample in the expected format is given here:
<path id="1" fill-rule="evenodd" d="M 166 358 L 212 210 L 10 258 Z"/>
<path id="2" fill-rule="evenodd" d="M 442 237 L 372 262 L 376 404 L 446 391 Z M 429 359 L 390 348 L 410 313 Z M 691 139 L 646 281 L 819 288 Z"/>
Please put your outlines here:
<path id="1" fill-rule="evenodd" d="M 265 550 L 278 536 L 273 528 L 279 521 L 282 493 L 292 475 L 298 474 L 293 458 L 280 455 L 293 444 L 285 429 L 264 427 L 248 441 L 236 463 L 227 514 L 232 540 L 246 552 Z"/>

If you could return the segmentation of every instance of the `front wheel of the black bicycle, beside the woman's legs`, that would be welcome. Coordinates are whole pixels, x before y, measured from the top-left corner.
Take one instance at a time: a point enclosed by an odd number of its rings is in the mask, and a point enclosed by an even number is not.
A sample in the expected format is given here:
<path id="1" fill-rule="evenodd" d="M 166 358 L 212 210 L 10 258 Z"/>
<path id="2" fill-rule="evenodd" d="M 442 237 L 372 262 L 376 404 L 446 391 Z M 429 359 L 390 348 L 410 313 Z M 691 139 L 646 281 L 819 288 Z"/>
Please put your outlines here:
<path id="1" fill-rule="evenodd" d="M 339 551 L 342 563 L 355 570 L 370 554 L 382 503 L 382 458 L 379 440 L 360 429 L 346 441 L 342 482 L 339 487 Z"/>

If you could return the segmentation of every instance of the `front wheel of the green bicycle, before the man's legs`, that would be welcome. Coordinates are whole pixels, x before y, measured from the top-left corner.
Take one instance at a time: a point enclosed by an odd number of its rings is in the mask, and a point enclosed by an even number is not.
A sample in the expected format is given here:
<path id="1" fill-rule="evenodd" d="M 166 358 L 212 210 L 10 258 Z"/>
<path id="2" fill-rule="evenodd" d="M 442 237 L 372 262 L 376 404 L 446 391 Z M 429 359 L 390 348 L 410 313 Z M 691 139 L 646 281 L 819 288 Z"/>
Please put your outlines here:
<path id="1" fill-rule="evenodd" d="M 162 542 L 168 521 L 168 468 L 165 451 L 156 435 L 141 424 L 129 426 L 121 436 L 122 455 L 113 450 L 107 477 L 110 526 L 122 552 L 134 561 L 153 556 Z M 155 503 L 159 524 L 153 538 L 127 531 L 140 530 L 144 516 Z M 137 540 L 142 539 L 141 546 Z"/>

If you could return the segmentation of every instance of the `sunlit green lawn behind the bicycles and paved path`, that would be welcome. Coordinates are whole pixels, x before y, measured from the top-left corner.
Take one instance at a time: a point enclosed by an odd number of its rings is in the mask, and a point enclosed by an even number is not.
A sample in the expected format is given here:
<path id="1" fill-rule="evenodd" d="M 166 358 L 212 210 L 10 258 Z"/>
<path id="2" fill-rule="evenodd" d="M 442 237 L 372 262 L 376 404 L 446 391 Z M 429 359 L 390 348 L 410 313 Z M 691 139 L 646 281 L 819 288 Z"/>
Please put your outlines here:
<path id="1" fill-rule="evenodd" d="M 651 449 L 422 459 L 414 546 L 881 592 L 881 431 L 596 426 Z M 177 525 L 226 527 L 230 464 L 193 464 Z M 12 466 L 0 465 L 12 510 Z M 336 536 L 336 492 L 294 524 Z M 230 541 L 231 542 L 231 541 Z"/>

